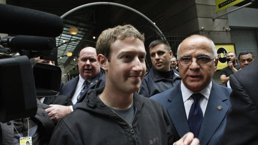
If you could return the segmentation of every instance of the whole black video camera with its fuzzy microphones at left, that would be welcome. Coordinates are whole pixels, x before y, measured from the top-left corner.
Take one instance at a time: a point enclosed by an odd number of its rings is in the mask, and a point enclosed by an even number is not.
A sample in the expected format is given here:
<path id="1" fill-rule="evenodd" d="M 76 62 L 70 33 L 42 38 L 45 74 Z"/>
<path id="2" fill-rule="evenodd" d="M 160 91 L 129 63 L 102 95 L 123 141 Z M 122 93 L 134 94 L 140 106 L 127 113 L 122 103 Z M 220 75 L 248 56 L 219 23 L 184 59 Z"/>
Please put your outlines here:
<path id="1" fill-rule="evenodd" d="M 57 96 L 61 69 L 30 63 L 30 58 L 57 61 L 55 37 L 63 20 L 53 14 L 0 4 L 0 122 L 35 116 L 36 97 Z M 8 48 L 8 49 L 7 49 Z"/>

